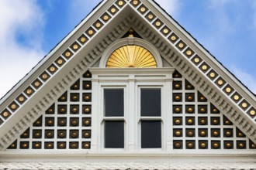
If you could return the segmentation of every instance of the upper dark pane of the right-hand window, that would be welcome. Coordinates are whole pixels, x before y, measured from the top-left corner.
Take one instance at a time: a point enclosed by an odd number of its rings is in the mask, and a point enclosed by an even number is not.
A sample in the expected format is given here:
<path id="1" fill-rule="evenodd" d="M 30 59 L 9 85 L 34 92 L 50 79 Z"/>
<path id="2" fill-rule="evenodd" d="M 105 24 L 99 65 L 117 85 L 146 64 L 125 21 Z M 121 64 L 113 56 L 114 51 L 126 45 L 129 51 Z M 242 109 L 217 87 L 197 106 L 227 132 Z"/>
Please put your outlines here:
<path id="1" fill-rule="evenodd" d="M 161 89 L 141 89 L 141 116 L 161 116 Z"/>

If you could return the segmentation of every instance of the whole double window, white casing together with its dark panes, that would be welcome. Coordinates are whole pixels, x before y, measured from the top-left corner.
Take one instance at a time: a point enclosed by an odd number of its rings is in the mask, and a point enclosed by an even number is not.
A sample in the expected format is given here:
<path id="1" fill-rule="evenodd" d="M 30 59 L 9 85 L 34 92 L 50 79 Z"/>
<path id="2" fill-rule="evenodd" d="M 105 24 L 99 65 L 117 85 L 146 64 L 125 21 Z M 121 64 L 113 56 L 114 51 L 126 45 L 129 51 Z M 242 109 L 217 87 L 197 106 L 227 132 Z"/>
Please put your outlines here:
<path id="1" fill-rule="evenodd" d="M 92 151 L 167 151 L 171 147 L 172 134 L 167 133 L 167 128 L 171 128 L 173 69 L 92 68 L 90 71 L 94 76 L 92 120 L 96 120 L 92 122 L 92 128 L 96 129 Z M 123 101 L 112 99 L 114 95 L 108 97 L 108 93 L 115 91 L 123 91 Z M 115 101 L 123 113 L 109 113 Z M 116 137 L 111 131 L 121 135 Z M 119 139 L 115 141 L 115 138 Z"/>

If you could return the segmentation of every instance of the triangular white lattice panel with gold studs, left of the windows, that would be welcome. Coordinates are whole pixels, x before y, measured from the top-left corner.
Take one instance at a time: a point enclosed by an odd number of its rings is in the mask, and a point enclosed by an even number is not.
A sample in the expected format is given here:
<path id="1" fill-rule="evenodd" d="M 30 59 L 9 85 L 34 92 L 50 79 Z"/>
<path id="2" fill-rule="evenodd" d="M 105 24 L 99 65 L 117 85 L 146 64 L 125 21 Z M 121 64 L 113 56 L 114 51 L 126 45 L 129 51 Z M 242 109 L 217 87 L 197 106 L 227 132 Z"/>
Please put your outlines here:
<path id="1" fill-rule="evenodd" d="M 86 72 L 8 149 L 90 149 L 91 80 Z"/>

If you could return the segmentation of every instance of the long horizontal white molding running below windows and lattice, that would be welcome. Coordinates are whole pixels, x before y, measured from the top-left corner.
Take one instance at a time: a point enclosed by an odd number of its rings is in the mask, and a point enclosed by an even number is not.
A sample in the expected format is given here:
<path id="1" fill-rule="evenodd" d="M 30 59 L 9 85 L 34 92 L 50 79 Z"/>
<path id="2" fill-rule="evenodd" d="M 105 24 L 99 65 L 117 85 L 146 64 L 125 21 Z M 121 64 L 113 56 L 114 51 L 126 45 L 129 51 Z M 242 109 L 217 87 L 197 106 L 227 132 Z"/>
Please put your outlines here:
<path id="1" fill-rule="evenodd" d="M 239 154 L 239 155 L 238 155 Z M 203 153 L 190 153 L 190 154 L 169 154 L 169 153 L 92 153 L 72 151 L 67 154 L 65 151 L 44 152 L 40 155 L 37 152 L 24 153 L 0 153 L 0 162 L 255 162 L 256 155 L 243 154 L 237 151 L 234 154 L 220 154 L 216 153 L 203 154 Z"/>

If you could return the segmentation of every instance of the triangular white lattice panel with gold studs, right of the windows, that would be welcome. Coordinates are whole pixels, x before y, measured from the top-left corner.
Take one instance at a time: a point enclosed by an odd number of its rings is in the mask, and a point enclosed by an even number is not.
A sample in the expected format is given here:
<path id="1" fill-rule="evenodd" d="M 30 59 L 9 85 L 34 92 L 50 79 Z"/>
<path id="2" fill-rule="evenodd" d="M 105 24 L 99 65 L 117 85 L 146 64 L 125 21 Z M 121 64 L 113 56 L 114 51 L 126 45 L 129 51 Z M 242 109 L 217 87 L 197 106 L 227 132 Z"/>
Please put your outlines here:
<path id="1" fill-rule="evenodd" d="M 174 149 L 255 149 L 220 110 L 175 72 L 173 82 Z"/>

